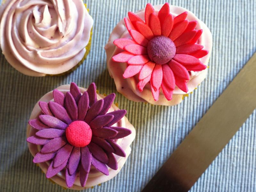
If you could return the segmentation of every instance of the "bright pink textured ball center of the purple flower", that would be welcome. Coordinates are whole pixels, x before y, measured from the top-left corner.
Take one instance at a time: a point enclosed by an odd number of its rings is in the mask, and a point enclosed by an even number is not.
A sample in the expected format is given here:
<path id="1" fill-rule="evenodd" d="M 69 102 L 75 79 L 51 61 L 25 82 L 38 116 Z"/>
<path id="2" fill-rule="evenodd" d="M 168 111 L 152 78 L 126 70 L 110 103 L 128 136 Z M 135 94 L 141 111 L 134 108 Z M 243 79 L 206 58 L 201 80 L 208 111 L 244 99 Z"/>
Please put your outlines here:
<path id="1" fill-rule="evenodd" d="M 91 127 L 84 121 L 74 121 L 66 129 L 68 142 L 75 147 L 85 147 L 91 142 Z"/>

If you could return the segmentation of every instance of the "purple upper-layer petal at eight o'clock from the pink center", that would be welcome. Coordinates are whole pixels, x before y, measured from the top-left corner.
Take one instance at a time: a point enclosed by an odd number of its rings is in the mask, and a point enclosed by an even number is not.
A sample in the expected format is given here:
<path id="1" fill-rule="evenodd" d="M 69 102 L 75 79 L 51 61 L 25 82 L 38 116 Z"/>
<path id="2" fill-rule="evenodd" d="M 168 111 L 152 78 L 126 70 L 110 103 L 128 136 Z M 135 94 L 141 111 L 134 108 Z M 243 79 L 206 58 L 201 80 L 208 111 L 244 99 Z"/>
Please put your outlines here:
<path id="1" fill-rule="evenodd" d="M 44 147 L 41 149 L 41 153 L 50 153 L 52 151 L 57 151 L 67 143 L 63 137 L 57 137 L 50 140 Z"/>

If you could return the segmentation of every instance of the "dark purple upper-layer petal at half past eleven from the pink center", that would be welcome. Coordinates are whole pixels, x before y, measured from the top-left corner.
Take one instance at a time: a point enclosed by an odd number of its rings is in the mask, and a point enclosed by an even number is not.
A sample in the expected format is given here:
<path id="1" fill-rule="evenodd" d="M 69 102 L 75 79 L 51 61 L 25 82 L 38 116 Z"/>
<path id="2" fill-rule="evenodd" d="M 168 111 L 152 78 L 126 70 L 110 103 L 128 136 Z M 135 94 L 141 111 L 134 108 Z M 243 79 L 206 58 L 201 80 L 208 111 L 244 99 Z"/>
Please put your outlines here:
<path id="1" fill-rule="evenodd" d="M 78 118 L 76 101 L 70 92 L 66 93 L 65 108 L 72 120 L 76 120 Z"/>

